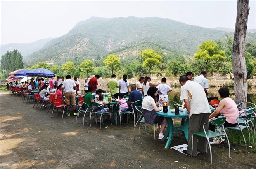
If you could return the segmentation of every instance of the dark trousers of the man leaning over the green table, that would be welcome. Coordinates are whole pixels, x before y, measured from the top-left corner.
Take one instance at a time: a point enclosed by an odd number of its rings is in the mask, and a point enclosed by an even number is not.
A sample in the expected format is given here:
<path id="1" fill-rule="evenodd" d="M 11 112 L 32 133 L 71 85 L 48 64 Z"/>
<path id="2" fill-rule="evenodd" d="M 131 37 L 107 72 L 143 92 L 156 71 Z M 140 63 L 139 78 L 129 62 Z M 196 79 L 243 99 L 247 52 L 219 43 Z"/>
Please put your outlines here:
<path id="1" fill-rule="evenodd" d="M 192 114 L 190 116 L 190 124 L 188 130 L 188 145 L 187 145 L 187 153 L 192 154 L 192 134 L 194 132 L 203 132 L 203 125 L 209 120 L 210 113 L 202 113 L 202 114 Z M 208 125 L 205 125 L 205 130 L 208 130 Z M 197 142 L 198 139 L 198 142 Z M 206 152 L 206 144 L 207 140 L 203 137 L 197 137 L 194 135 L 193 138 L 193 156 L 197 155 L 197 150 L 201 153 Z"/>

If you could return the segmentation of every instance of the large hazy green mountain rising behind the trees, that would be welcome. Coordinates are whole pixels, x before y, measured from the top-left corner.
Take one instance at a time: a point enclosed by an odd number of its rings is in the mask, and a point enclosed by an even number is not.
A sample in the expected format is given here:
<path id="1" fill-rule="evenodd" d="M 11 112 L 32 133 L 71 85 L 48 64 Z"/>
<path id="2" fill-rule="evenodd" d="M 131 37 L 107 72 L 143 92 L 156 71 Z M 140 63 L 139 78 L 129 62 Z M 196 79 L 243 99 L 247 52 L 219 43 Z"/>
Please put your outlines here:
<path id="1" fill-rule="evenodd" d="M 77 23 L 66 35 L 51 40 L 24 60 L 57 65 L 71 60 L 78 64 L 109 53 L 138 51 L 155 46 L 160 46 L 166 53 L 179 51 L 193 56 L 203 41 L 224 39 L 227 34 L 233 36 L 222 30 L 157 17 L 92 17 Z M 248 33 L 247 37 L 256 40 L 255 33 Z"/>

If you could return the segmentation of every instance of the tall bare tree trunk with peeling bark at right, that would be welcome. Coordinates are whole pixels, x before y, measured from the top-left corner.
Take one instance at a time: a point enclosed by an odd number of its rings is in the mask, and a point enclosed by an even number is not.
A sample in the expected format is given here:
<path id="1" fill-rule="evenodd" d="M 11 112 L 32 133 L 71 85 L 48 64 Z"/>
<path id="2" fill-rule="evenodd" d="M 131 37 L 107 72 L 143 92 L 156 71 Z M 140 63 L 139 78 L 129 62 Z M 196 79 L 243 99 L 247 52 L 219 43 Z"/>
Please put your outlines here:
<path id="1" fill-rule="evenodd" d="M 245 37 L 249 15 L 249 0 L 237 0 L 237 19 L 233 44 L 233 74 L 235 102 L 247 102 L 247 71 L 245 62 Z"/>

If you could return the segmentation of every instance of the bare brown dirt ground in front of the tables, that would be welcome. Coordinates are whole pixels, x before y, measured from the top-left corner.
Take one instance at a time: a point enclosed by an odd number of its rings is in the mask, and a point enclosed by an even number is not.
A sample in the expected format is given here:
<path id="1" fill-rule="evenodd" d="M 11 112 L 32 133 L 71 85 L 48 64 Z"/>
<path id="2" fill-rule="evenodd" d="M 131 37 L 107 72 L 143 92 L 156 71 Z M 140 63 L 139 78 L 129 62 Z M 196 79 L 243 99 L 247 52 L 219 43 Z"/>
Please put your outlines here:
<path id="1" fill-rule="evenodd" d="M 154 133 L 136 129 L 133 123 L 120 126 L 106 121 L 99 124 L 86 115 L 76 124 L 75 116 L 61 118 L 61 113 L 47 113 L 33 108 L 33 103 L 0 91 L 0 168 L 1 169 L 83 169 L 83 168 L 234 168 L 256 169 L 256 153 L 241 152 L 244 147 L 213 145 L 213 165 L 210 153 L 189 157 L 173 149 L 164 149 L 166 141 L 156 140 Z M 107 128 L 105 128 L 107 126 Z M 150 127 L 150 125 L 148 126 Z M 187 144 L 181 132 L 175 132 L 171 146 Z M 178 161 L 178 162 L 175 162 Z"/>

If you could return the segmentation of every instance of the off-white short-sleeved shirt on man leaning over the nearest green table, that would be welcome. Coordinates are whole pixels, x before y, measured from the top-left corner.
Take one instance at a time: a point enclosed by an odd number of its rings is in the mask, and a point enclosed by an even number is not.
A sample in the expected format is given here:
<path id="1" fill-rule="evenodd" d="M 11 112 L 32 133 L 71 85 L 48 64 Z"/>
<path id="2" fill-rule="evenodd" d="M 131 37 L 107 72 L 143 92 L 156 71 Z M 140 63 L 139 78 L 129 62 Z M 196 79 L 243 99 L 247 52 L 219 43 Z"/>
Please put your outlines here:
<path id="1" fill-rule="evenodd" d="M 180 89 L 180 100 L 187 99 L 190 102 L 190 117 L 192 114 L 210 113 L 204 89 L 199 83 L 187 81 Z"/>

